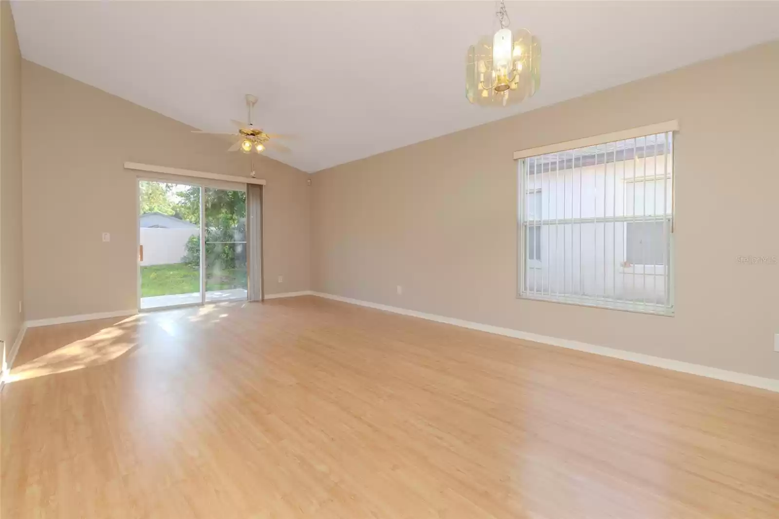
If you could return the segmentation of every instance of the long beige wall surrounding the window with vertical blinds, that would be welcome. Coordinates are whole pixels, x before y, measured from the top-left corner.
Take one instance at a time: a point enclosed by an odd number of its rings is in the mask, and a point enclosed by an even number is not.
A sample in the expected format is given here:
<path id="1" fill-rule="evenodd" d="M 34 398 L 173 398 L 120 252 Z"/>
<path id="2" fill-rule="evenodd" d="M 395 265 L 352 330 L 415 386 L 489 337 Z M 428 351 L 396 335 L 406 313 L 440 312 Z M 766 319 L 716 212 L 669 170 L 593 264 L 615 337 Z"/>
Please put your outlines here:
<path id="1" fill-rule="evenodd" d="M 774 42 L 320 171 L 312 287 L 779 378 L 779 265 L 736 261 L 779 255 L 777 64 Z M 670 119 L 676 315 L 517 299 L 513 152 Z"/>

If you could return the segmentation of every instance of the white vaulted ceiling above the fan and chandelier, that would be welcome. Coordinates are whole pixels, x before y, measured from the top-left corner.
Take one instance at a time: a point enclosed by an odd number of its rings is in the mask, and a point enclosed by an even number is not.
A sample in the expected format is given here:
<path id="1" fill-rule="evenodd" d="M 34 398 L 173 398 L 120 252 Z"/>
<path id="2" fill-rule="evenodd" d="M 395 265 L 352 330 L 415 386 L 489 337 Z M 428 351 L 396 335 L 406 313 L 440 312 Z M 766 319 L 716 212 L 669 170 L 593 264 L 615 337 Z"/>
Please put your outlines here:
<path id="1" fill-rule="evenodd" d="M 244 94 L 272 157 L 318 171 L 779 38 L 779 2 L 506 2 L 541 39 L 541 91 L 471 106 L 493 2 L 15 2 L 25 58 L 199 129 Z"/>

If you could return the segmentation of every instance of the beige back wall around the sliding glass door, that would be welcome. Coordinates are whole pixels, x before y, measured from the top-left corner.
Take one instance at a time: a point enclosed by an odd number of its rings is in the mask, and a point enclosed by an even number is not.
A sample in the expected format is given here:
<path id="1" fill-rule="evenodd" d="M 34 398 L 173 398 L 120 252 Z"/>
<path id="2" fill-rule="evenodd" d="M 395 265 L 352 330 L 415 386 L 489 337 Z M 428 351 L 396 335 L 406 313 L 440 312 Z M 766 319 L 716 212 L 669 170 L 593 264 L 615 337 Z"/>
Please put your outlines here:
<path id="1" fill-rule="evenodd" d="M 248 176 L 248 156 L 31 62 L 23 61 L 22 84 L 26 318 L 135 309 L 136 177 L 122 164 Z M 307 290 L 308 175 L 267 157 L 256 170 L 267 181 L 266 293 Z"/>

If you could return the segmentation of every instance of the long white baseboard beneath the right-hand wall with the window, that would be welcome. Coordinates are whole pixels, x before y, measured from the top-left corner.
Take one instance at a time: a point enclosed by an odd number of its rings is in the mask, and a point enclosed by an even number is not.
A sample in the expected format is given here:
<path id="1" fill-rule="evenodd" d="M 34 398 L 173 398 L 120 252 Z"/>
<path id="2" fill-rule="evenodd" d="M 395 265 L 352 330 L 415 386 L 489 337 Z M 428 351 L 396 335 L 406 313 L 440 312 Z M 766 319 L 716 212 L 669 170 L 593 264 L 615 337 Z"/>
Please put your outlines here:
<path id="1" fill-rule="evenodd" d="M 323 294 L 321 292 L 312 292 L 312 295 L 317 295 L 321 298 L 334 299 L 336 301 L 342 301 L 351 303 L 352 305 L 367 306 L 368 308 L 375 308 L 379 310 L 386 310 L 386 312 L 400 313 L 404 316 L 419 317 L 420 319 L 426 319 L 430 321 L 436 321 L 438 323 L 453 324 L 456 327 L 470 328 L 471 330 L 480 330 L 489 334 L 504 335 L 506 337 L 514 337 L 516 339 L 523 339 L 525 341 L 540 342 L 543 344 L 551 344 L 552 346 L 559 346 L 561 348 L 569 348 L 576 351 L 587 351 L 587 353 L 594 353 L 597 355 L 604 355 L 605 357 L 620 358 L 622 360 L 630 362 L 638 362 L 640 364 L 653 365 L 657 368 L 671 369 L 682 373 L 689 373 L 692 375 L 706 376 L 710 379 L 724 380 L 725 382 L 732 382 L 741 384 L 743 386 L 760 387 L 761 389 L 776 391 L 779 393 L 779 380 L 768 379 L 762 376 L 748 375 L 746 373 L 739 373 L 735 371 L 728 371 L 727 369 L 711 368 L 706 365 L 693 364 L 691 362 L 682 362 L 672 360 L 670 358 L 654 357 L 653 355 L 644 355 L 643 353 L 636 353 L 634 351 L 618 350 L 615 348 L 606 348 L 605 346 L 597 346 L 596 344 L 587 344 L 580 341 L 570 341 L 569 339 L 560 339 L 559 337 L 549 337 L 547 335 L 530 334 L 520 330 L 512 330 L 511 328 L 494 327 L 489 324 L 473 323 L 471 321 L 465 321 L 460 319 L 453 319 L 452 317 L 436 316 L 432 313 L 417 312 L 415 310 L 407 310 L 404 308 L 398 308 L 397 306 L 380 305 L 379 303 L 361 301 L 360 299 L 344 298 L 340 295 Z"/>

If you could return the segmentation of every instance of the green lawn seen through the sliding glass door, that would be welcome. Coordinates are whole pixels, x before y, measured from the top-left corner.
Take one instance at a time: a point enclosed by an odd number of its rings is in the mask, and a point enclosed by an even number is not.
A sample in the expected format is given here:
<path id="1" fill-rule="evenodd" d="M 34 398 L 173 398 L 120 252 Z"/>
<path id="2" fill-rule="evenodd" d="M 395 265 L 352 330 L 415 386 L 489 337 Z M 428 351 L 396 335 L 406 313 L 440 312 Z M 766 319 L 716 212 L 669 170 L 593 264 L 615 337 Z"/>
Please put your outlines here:
<path id="1" fill-rule="evenodd" d="M 200 291 L 199 269 L 184 263 L 141 267 L 141 297 Z M 206 270 L 206 291 L 246 288 L 246 268 Z"/>

